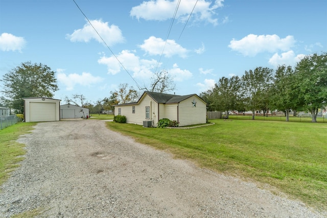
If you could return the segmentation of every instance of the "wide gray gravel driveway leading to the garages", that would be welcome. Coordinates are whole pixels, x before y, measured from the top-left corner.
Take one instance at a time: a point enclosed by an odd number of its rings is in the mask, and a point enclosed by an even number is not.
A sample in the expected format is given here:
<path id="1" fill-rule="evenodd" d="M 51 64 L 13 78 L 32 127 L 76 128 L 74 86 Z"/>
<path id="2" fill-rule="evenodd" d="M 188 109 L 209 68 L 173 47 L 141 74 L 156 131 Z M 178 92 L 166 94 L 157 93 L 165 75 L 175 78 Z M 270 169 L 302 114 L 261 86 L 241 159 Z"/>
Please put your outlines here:
<path id="1" fill-rule="evenodd" d="M 0 193 L 0 216 L 324 217 L 253 183 L 201 169 L 108 130 L 103 120 L 39 123 Z"/>

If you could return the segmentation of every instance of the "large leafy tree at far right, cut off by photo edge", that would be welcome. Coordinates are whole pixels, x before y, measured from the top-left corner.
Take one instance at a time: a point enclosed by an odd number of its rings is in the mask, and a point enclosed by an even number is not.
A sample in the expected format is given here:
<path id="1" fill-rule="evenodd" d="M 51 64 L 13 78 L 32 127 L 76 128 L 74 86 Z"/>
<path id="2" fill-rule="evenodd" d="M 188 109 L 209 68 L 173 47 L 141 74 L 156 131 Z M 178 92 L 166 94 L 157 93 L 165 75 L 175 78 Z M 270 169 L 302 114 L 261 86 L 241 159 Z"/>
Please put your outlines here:
<path id="1" fill-rule="evenodd" d="M 327 105 L 327 53 L 302 58 L 295 66 L 294 83 L 299 105 L 317 122 L 318 109 Z"/>

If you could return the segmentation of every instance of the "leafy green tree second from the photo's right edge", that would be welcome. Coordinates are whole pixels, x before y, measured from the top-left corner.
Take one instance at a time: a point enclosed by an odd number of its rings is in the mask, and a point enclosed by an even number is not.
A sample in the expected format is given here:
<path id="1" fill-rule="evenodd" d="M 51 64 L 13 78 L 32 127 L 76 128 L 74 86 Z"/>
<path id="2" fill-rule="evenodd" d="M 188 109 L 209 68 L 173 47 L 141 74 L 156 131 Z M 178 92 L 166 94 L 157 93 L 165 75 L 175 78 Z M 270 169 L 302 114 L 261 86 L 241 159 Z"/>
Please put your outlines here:
<path id="1" fill-rule="evenodd" d="M 289 111 L 298 105 L 298 98 L 294 93 L 294 70 L 291 66 L 278 66 L 270 93 L 272 107 L 285 111 L 286 121 L 289 121 Z"/>

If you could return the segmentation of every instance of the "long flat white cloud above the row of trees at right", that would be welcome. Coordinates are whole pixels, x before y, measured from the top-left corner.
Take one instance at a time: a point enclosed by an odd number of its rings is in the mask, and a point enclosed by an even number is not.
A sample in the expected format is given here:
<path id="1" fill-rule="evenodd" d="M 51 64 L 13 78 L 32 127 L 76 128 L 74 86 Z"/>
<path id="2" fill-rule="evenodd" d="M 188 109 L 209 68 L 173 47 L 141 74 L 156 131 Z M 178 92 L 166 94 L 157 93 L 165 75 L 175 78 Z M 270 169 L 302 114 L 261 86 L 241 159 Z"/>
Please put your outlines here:
<path id="1" fill-rule="evenodd" d="M 241 40 L 232 39 L 228 47 L 244 56 L 255 56 L 258 53 L 289 51 L 295 45 L 293 36 L 279 38 L 277 35 L 254 35 L 249 34 Z"/>

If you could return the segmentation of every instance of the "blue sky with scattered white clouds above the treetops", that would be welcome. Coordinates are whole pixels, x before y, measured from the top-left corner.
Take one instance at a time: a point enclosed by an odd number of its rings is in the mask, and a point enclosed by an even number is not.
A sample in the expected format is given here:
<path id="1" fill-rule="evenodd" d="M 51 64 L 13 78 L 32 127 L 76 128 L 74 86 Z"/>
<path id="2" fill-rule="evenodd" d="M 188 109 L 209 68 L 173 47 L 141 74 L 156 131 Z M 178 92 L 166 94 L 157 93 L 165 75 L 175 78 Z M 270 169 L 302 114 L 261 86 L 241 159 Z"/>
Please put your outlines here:
<path id="1" fill-rule="evenodd" d="M 55 99 L 95 102 L 120 83 L 149 88 L 165 69 L 176 94 L 200 94 L 221 77 L 327 51 L 325 0 L 181 0 L 171 29 L 179 0 L 75 1 L 127 71 L 73 0 L 0 0 L 1 78 L 42 63 L 56 71 Z"/>

